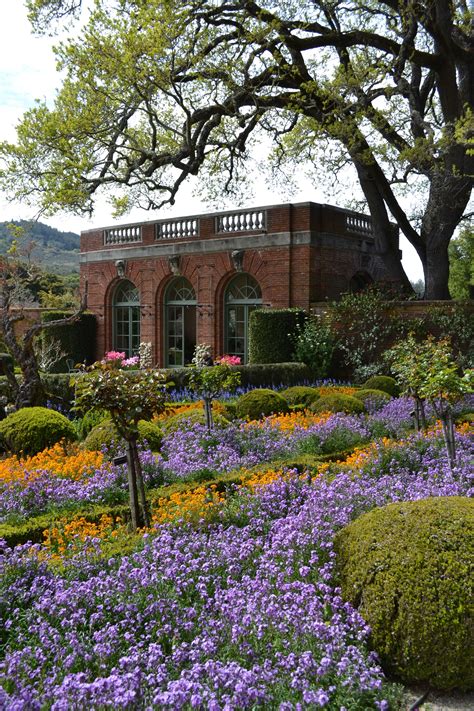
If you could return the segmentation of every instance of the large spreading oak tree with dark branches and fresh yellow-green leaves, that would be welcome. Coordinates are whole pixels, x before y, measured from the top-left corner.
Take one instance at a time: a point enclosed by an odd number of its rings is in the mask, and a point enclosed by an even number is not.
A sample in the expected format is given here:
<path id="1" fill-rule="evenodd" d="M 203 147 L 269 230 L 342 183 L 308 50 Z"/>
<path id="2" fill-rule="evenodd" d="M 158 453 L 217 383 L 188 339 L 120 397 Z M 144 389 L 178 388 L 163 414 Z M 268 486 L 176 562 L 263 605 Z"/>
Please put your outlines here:
<path id="1" fill-rule="evenodd" d="M 28 4 L 39 30 L 81 8 Z M 464 0 L 97 0 L 57 54 L 54 106 L 25 114 L 2 147 L 12 196 L 81 213 L 109 191 L 118 212 L 154 209 L 189 175 L 231 189 L 262 136 L 283 168 L 329 141 L 355 169 L 387 265 L 406 279 L 395 221 L 426 298 L 449 298 L 448 245 L 474 172 Z"/>

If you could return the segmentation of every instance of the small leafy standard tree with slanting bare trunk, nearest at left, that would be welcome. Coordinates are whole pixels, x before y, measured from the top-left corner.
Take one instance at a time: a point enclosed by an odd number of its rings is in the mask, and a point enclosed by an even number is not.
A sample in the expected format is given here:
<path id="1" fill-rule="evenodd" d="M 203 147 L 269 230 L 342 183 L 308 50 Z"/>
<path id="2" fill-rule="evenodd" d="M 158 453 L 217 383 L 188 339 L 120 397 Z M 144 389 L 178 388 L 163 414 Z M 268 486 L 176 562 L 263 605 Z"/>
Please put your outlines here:
<path id="1" fill-rule="evenodd" d="M 165 407 L 164 376 L 147 369 L 127 370 L 138 358 L 111 351 L 76 380 L 78 410 L 108 410 L 117 431 L 127 442 L 128 488 L 132 528 L 150 523 L 145 485 L 138 456 L 138 422 L 151 419 Z M 140 499 L 140 505 L 139 505 Z M 141 507 L 141 510 L 140 510 Z"/>

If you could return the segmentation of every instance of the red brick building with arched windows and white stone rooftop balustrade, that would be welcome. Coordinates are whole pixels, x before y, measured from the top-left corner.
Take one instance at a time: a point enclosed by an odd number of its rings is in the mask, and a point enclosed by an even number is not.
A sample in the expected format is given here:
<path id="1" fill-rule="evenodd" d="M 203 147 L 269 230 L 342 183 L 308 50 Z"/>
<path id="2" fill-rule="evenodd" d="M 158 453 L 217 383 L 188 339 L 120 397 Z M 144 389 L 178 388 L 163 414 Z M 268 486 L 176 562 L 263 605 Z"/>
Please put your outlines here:
<path id="1" fill-rule="evenodd" d="M 246 362 L 252 309 L 310 309 L 394 281 L 369 217 L 311 202 L 88 230 L 80 264 L 97 357 L 144 341 L 170 367 L 188 363 L 196 343 Z"/>

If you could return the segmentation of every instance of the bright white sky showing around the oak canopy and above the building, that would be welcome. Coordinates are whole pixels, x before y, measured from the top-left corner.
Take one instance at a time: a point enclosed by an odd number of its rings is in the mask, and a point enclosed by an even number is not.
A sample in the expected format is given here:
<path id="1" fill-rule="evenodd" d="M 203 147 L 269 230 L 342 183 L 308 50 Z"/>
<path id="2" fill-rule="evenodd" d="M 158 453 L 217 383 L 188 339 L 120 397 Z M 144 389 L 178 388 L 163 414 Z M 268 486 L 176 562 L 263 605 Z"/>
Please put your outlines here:
<path id="1" fill-rule="evenodd" d="M 0 141 L 15 141 L 15 127 L 23 113 L 31 108 L 36 99 L 46 100 L 50 105 L 54 101 L 56 90 L 60 87 L 61 77 L 56 71 L 55 57 L 52 51 L 56 38 L 37 37 L 31 32 L 26 10 L 22 0 L 1 0 L 0 6 Z M 296 194 L 291 198 L 272 192 L 259 184 L 256 189 L 255 205 L 269 205 L 279 202 L 314 202 L 331 203 L 330 196 L 319 192 L 314 184 L 302 181 Z M 208 212 L 211 208 L 192 190 L 184 189 L 178 193 L 172 208 L 163 209 L 159 217 L 191 215 Z M 154 219 L 158 213 L 133 210 L 119 221 L 112 216 L 109 205 L 98 202 L 91 218 L 76 217 L 63 213 L 44 220 L 48 225 L 59 230 L 81 232 L 95 227 L 113 224 L 145 221 Z M 0 222 L 12 220 L 31 220 L 35 218 L 34 208 L 9 203 L 0 194 Z M 422 277 L 421 264 L 414 249 L 402 237 L 400 246 L 403 252 L 403 265 L 412 281 Z"/>

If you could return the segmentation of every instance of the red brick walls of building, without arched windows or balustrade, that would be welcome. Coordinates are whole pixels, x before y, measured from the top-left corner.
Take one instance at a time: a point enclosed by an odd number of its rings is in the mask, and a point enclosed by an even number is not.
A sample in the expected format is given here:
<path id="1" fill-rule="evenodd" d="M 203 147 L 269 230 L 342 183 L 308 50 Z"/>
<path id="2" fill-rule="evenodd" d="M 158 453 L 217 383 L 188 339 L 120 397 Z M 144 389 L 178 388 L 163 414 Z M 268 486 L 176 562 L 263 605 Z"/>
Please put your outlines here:
<path id="1" fill-rule="evenodd" d="M 140 257 L 142 246 L 151 249 L 152 254 L 152 245 L 159 249 L 165 245 L 164 249 L 172 254 L 173 245 L 177 245 L 175 251 L 181 251 L 180 274 L 189 280 L 196 293 L 197 342 L 210 343 L 214 354 L 224 351 L 225 289 L 237 273 L 230 252 L 240 238 L 244 245 L 243 271 L 259 283 L 265 306 L 309 309 L 313 301 L 336 298 L 348 290 L 351 277 L 362 269 L 363 263 L 367 265 L 367 260 L 373 278 L 387 278 L 378 257 L 372 255 L 369 259 L 366 254 L 364 256 L 364 249 L 370 250 L 370 237 L 347 231 L 345 211 L 313 203 L 259 209 L 266 211 L 266 230 L 255 230 L 255 240 L 248 231 L 216 234 L 216 215 L 199 216 L 198 237 L 157 241 L 155 222 L 141 224 L 140 243 L 104 246 L 104 230 L 83 233 L 81 253 L 83 260 L 88 258 L 88 261 L 81 264 L 81 288 L 84 291 L 87 282 L 88 307 L 97 315 L 97 356 L 101 357 L 112 347 L 111 306 L 115 287 L 120 281 L 115 265 L 116 255 L 120 253 L 120 258 L 126 261 L 125 278 L 140 292 L 141 340 L 152 343 L 156 363 L 161 365 L 164 362 L 164 301 L 173 273 L 168 258 L 158 256 L 159 252 L 156 257 Z M 282 240 L 288 238 L 289 246 L 282 244 Z M 223 242 L 224 249 L 217 251 L 216 246 L 216 251 L 212 251 L 213 245 L 209 241 L 214 240 L 220 245 L 223 239 L 228 240 Z M 203 244 L 202 251 L 196 251 L 196 242 Z M 188 253 L 186 243 L 190 244 Z M 252 245 L 250 248 L 249 244 Z M 107 258 L 112 250 L 114 254 Z M 133 257 L 127 256 L 127 252 L 132 255 L 129 250 L 133 250 Z M 99 260 L 94 261 L 97 256 Z"/>

